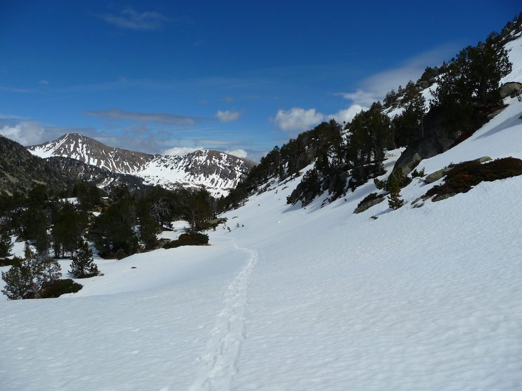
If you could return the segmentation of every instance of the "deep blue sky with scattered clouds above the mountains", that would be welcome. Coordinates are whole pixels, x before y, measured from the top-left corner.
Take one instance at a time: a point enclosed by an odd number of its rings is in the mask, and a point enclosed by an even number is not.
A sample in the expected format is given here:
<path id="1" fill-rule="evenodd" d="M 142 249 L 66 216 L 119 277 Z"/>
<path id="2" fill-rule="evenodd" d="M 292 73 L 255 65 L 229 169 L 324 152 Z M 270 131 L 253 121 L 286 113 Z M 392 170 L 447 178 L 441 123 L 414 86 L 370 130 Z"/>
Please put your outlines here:
<path id="1" fill-rule="evenodd" d="M 0 2 L 0 134 L 258 160 L 349 120 L 518 1 Z"/>

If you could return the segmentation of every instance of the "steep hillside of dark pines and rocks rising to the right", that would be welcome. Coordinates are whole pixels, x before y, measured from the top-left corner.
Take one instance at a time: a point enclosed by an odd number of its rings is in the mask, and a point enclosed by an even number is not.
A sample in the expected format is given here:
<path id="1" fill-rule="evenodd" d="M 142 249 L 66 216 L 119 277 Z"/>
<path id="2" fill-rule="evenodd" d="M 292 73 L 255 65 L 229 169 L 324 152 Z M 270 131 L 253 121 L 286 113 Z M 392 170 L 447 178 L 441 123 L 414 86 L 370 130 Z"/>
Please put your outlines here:
<path id="1" fill-rule="evenodd" d="M 522 30 L 522 14 L 501 33 L 467 46 L 441 66 L 426 67 L 417 82 L 398 87 L 346 124 L 335 120 L 275 147 L 231 194 L 220 210 L 236 207 L 270 179 L 284 181 L 314 163 L 289 203 L 307 205 L 328 191 L 330 201 L 384 173 L 387 150 L 405 147 L 394 170 L 409 174 L 421 160 L 440 154 L 470 137 L 502 111 L 502 100 L 520 93 L 519 83 L 502 78 L 512 70 L 505 45 Z M 428 99 L 426 99 L 428 97 Z"/>

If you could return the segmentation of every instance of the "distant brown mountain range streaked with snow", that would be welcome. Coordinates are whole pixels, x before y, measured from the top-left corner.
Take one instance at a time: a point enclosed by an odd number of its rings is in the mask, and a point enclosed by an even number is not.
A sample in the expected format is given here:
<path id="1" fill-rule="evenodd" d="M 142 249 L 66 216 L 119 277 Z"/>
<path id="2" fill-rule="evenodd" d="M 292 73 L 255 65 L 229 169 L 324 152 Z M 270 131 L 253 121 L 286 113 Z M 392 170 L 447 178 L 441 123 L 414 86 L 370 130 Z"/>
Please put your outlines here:
<path id="1" fill-rule="evenodd" d="M 151 155 L 113 148 L 77 133 L 27 148 L 39 157 L 71 157 L 113 173 L 134 175 L 147 185 L 167 189 L 204 186 L 213 196 L 226 196 L 254 166 L 252 161 L 215 150 L 181 156 Z"/>

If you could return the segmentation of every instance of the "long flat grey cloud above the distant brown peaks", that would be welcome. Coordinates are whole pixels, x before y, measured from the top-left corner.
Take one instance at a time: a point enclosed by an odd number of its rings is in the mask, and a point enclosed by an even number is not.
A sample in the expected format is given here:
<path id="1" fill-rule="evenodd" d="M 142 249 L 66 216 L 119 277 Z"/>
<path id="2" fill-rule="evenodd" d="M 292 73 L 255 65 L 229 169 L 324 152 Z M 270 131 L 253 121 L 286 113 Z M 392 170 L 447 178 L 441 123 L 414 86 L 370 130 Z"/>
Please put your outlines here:
<path id="1" fill-rule="evenodd" d="M 101 117 L 112 121 L 138 121 L 138 122 L 153 122 L 158 124 L 171 125 L 188 125 L 192 126 L 196 121 L 206 118 L 197 118 L 189 116 L 181 116 L 168 113 L 138 113 L 126 112 L 118 108 L 111 108 L 106 110 L 88 111 L 84 113 L 91 117 Z"/>

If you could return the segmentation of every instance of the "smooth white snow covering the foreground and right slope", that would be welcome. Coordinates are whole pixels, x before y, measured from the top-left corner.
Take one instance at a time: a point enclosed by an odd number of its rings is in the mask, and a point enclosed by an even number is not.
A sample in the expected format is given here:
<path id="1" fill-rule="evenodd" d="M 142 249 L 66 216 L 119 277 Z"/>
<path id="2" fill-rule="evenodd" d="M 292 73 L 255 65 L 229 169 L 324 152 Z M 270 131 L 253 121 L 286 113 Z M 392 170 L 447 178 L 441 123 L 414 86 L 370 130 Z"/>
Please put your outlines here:
<path id="1" fill-rule="evenodd" d="M 421 165 L 522 157 L 506 102 Z M 1 301 L 0 388 L 522 389 L 522 177 L 421 207 L 435 184 L 413 179 L 401 209 L 357 215 L 373 183 L 301 208 L 299 180 L 227 213 L 211 246 L 97 260 L 77 294 Z"/>

